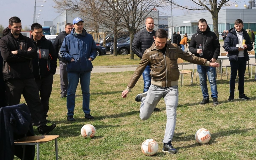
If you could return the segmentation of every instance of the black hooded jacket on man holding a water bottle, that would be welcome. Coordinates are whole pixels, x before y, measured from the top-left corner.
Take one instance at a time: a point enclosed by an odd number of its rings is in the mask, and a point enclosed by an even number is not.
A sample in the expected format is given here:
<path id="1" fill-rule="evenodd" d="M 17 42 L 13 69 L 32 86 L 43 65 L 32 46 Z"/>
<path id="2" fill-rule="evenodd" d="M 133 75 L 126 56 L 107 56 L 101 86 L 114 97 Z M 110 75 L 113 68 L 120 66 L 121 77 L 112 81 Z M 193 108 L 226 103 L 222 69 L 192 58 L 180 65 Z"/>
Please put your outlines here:
<path id="1" fill-rule="evenodd" d="M 197 53 L 200 44 L 203 47 L 202 56 Z M 201 32 L 197 27 L 197 33 L 191 37 L 189 51 L 195 56 L 205 58 L 208 61 L 212 58 L 218 59 L 220 53 L 219 39 L 214 32 L 210 31 L 209 26 L 207 26 L 205 32 Z"/>

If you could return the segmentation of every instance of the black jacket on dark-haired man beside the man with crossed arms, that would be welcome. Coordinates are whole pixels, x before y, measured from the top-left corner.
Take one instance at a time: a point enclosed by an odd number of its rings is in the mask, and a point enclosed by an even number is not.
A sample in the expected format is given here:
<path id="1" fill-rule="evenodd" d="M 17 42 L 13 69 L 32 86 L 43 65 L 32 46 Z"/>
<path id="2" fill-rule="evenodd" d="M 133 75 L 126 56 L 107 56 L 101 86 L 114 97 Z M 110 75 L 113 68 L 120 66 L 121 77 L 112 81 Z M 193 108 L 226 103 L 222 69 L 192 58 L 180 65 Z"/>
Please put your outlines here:
<path id="1" fill-rule="evenodd" d="M 58 55 L 55 53 L 53 44 L 44 36 L 39 41 L 31 40 L 37 48 L 37 58 L 33 59 L 33 74 L 35 79 L 42 79 L 55 74 Z"/>

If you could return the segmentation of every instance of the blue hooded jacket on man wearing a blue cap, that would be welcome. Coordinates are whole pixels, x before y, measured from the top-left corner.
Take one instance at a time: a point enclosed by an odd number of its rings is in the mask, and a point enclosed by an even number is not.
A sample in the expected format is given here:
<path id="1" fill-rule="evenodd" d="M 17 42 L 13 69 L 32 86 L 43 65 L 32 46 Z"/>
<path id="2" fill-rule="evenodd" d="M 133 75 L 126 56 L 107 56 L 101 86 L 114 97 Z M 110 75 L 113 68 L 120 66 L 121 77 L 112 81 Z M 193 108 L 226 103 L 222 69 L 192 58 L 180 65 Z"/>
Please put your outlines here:
<path id="1" fill-rule="evenodd" d="M 65 61 L 68 61 L 66 71 L 71 73 L 84 73 L 92 70 L 91 58 L 96 58 L 96 44 L 91 34 L 87 34 L 86 30 L 82 34 L 75 34 L 75 28 L 64 38 L 60 47 L 60 54 Z M 75 61 L 71 62 L 71 59 Z"/>

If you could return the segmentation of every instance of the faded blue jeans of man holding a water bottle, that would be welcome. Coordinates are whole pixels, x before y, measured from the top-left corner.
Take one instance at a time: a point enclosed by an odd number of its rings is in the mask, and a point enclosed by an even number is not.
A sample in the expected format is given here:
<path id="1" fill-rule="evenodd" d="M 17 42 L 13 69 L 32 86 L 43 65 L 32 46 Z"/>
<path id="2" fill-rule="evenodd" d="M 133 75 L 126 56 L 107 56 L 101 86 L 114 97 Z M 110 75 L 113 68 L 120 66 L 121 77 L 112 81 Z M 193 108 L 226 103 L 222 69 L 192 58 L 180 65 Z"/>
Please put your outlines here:
<path id="1" fill-rule="evenodd" d="M 217 84 L 216 84 L 216 68 L 205 66 L 205 65 L 197 65 L 200 87 L 202 90 L 203 98 L 206 99 L 209 97 L 208 88 L 207 88 L 207 77 L 210 83 L 210 89 L 212 92 L 211 97 L 218 98 Z"/>

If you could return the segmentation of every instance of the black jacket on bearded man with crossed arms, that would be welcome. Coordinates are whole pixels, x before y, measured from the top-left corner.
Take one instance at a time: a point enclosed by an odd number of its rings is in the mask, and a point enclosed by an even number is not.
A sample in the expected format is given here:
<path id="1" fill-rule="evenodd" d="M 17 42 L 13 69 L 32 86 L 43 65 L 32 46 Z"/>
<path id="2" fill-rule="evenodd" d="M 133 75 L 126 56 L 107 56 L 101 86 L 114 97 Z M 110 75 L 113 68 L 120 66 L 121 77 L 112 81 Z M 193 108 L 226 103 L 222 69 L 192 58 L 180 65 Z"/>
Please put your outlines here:
<path id="1" fill-rule="evenodd" d="M 27 51 L 32 47 L 31 51 Z M 0 39 L 1 55 L 4 59 L 3 75 L 4 80 L 8 79 L 30 79 L 33 78 L 32 59 L 37 58 L 36 48 L 30 38 L 20 34 L 15 39 L 11 31 Z M 17 54 L 11 51 L 17 50 Z"/>

